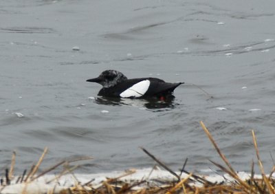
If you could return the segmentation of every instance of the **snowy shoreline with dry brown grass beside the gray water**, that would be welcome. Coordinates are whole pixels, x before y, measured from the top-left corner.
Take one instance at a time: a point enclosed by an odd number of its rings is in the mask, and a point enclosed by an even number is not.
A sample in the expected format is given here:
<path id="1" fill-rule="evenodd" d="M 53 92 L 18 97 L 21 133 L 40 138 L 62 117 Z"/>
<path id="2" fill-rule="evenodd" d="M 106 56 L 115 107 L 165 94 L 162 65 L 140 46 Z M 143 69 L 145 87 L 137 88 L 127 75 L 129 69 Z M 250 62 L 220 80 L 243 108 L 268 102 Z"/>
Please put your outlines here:
<path id="1" fill-rule="evenodd" d="M 218 175 L 213 171 L 212 175 L 196 175 L 186 171 L 186 161 L 181 171 L 172 171 L 164 162 L 158 160 L 154 155 L 141 148 L 155 165 L 151 169 L 129 169 L 126 171 L 114 171 L 111 173 L 88 173 L 77 174 L 74 170 L 80 165 L 75 162 L 92 160 L 91 157 L 76 158 L 74 160 L 63 160 L 50 166 L 39 173 L 43 158 L 48 151 L 45 148 L 41 158 L 36 165 L 32 165 L 29 171 L 25 170 L 22 175 L 14 175 L 16 153 L 12 154 L 10 169 L 5 169 L 5 175 L 1 178 L 0 193 L 274 193 L 275 177 L 273 173 L 275 166 L 269 174 L 265 174 L 263 164 L 259 155 L 256 136 L 252 131 L 252 139 L 258 166 L 261 175 L 254 174 L 254 162 L 251 164 L 251 172 L 234 171 L 231 164 L 218 145 L 212 138 L 210 132 L 200 122 L 214 149 L 221 157 L 224 165 L 211 161 L 223 174 Z M 59 166 L 63 166 L 61 172 L 56 174 Z"/>

